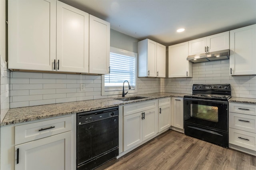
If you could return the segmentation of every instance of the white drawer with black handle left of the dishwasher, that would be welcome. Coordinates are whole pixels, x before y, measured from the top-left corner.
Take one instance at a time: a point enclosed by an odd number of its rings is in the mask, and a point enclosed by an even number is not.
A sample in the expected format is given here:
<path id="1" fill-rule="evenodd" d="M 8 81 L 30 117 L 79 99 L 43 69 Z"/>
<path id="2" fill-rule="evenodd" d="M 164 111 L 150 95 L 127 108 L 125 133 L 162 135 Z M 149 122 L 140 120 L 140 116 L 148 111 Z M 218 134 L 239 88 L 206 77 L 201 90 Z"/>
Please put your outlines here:
<path id="1" fill-rule="evenodd" d="M 71 116 L 15 126 L 15 144 L 21 144 L 71 130 Z"/>

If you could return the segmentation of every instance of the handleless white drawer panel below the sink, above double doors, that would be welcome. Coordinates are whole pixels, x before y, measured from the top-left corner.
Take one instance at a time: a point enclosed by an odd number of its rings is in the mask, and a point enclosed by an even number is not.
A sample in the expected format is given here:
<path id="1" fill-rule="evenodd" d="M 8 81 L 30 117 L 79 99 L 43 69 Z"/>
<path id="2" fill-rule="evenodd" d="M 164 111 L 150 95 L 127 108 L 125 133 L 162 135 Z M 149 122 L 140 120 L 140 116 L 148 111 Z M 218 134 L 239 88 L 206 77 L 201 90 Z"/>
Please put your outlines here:
<path id="1" fill-rule="evenodd" d="M 124 116 L 156 108 L 157 100 L 139 102 L 124 106 Z"/>

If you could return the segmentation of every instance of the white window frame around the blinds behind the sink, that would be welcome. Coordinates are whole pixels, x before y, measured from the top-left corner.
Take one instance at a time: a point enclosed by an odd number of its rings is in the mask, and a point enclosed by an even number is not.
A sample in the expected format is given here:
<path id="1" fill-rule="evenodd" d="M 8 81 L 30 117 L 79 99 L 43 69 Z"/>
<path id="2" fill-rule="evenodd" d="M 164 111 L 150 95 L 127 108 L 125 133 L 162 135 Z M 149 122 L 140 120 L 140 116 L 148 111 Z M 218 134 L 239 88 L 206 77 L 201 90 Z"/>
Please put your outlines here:
<path id="1" fill-rule="evenodd" d="M 135 58 L 135 86 L 134 89 L 128 89 L 128 83 L 124 83 L 124 90 L 128 91 L 128 93 L 137 93 L 137 77 L 138 77 L 138 54 L 131 52 L 131 51 L 126 51 L 124 49 L 119 49 L 119 48 L 115 48 L 115 47 L 110 47 L 110 53 L 116 53 L 116 54 L 120 54 L 120 55 L 126 55 L 126 56 L 130 56 L 130 57 L 134 57 Z M 110 72 L 111 72 L 111 68 L 110 68 Z M 105 75 L 102 75 L 101 77 L 101 95 L 119 95 L 122 94 L 122 86 L 120 88 L 120 86 L 118 87 L 113 87 L 113 88 L 109 88 L 111 89 L 110 91 L 105 91 Z"/>

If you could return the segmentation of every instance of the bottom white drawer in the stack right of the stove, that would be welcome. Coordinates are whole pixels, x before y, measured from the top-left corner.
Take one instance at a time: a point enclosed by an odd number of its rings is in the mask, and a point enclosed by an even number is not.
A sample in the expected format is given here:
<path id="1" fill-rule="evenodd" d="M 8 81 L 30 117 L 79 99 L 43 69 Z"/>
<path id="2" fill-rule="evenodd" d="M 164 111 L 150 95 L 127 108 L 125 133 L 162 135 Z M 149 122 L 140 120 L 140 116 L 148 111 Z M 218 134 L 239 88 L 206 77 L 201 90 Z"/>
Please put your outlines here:
<path id="1" fill-rule="evenodd" d="M 229 143 L 231 144 L 256 150 L 255 138 L 255 133 L 229 128 Z"/>

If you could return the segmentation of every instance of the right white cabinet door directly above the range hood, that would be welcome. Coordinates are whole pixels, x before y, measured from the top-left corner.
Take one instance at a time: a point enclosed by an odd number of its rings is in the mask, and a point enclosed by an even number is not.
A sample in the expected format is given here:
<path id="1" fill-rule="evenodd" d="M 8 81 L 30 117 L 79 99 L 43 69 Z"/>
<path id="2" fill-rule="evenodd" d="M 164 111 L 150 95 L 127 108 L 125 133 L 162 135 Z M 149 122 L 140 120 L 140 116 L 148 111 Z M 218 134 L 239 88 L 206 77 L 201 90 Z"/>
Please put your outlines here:
<path id="1" fill-rule="evenodd" d="M 207 37 L 208 52 L 229 49 L 229 31 Z"/>

